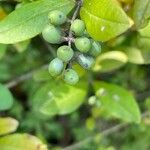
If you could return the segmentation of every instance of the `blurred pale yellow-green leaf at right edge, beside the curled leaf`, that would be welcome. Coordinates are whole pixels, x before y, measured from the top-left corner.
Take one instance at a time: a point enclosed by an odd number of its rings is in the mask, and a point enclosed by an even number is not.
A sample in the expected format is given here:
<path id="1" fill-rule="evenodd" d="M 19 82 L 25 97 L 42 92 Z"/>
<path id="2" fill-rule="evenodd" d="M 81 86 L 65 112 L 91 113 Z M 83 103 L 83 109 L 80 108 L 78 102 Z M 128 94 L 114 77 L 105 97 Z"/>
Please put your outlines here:
<path id="1" fill-rule="evenodd" d="M 126 47 L 124 52 L 128 56 L 129 62 L 134 64 L 149 64 L 150 50 L 138 49 L 136 47 Z"/>

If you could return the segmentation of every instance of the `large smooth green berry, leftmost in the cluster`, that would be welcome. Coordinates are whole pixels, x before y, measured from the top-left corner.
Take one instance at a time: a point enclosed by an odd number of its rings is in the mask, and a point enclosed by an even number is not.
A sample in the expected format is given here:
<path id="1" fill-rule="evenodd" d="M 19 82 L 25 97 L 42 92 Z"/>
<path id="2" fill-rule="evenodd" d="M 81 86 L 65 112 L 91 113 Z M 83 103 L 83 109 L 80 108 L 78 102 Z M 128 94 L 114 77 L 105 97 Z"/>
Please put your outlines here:
<path id="1" fill-rule="evenodd" d="M 62 39 L 61 31 L 53 25 L 47 25 L 42 31 L 42 36 L 51 44 L 58 44 Z"/>

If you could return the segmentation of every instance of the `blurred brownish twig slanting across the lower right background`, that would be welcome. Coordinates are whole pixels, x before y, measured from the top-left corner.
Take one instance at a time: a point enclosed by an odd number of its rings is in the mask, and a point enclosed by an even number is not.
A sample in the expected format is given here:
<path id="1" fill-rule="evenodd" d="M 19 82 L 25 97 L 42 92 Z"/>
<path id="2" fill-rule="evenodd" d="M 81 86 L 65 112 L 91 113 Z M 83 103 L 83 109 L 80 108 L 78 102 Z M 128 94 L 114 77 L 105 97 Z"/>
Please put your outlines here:
<path id="1" fill-rule="evenodd" d="M 147 111 L 147 112 L 143 113 L 142 114 L 142 118 L 144 118 L 144 117 L 146 117 L 148 115 L 150 115 L 150 111 Z M 106 130 L 104 130 L 104 131 L 102 131 L 102 132 L 100 132 L 100 133 L 98 133 L 96 135 L 108 136 L 108 135 L 110 135 L 110 134 L 112 134 L 114 132 L 117 132 L 117 131 L 127 127 L 128 125 L 129 125 L 128 123 L 120 123 L 120 124 L 115 125 L 115 126 L 109 128 L 109 129 L 106 129 Z M 92 141 L 94 139 L 94 137 L 95 136 L 90 136 L 90 137 L 86 138 L 83 141 L 80 141 L 80 142 L 75 143 L 75 144 L 73 144 L 71 146 L 63 148 L 62 150 L 77 150 L 77 148 L 80 148 L 82 145 Z"/>

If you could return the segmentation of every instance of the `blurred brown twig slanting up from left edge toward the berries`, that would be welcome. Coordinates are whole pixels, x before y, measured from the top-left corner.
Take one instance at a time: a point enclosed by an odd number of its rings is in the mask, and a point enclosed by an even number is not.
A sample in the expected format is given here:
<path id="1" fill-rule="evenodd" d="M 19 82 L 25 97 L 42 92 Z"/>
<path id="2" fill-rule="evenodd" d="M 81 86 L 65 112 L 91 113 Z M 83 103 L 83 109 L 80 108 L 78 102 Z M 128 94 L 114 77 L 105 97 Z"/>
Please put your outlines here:
<path id="1" fill-rule="evenodd" d="M 25 80 L 30 79 L 35 72 L 37 72 L 39 70 L 45 70 L 47 68 L 48 68 L 48 64 L 43 65 L 39 69 L 32 70 L 32 71 L 30 71 L 28 73 L 25 73 L 25 74 L 21 75 L 20 77 L 18 77 L 16 79 L 13 79 L 12 81 L 9 81 L 8 83 L 5 84 L 5 86 L 8 87 L 8 88 L 12 88 L 12 87 L 18 85 L 20 82 L 23 82 Z"/>

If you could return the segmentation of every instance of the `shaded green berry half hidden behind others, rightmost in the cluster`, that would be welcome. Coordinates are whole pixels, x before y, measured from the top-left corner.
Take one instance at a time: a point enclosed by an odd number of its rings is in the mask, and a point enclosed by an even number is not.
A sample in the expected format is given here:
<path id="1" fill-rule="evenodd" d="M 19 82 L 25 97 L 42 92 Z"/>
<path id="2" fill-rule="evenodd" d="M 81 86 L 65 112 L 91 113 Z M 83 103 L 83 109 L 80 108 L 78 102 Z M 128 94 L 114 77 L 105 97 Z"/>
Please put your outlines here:
<path id="1" fill-rule="evenodd" d="M 99 42 L 92 40 L 92 47 L 89 51 L 89 54 L 93 57 L 98 56 L 101 53 L 101 45 Z"/>

